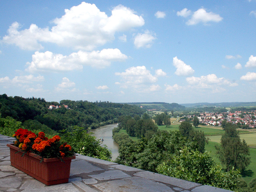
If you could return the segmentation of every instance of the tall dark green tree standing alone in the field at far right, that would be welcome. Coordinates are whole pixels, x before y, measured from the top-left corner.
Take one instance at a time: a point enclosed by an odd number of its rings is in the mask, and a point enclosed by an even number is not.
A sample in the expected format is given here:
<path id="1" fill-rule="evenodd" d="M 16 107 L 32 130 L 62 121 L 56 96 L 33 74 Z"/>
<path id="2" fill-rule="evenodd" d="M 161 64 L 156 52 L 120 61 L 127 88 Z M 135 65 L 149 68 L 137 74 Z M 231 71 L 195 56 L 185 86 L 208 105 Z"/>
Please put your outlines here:
<path id="1" fill-rule="evenodd" d="M 250 164 L 250 151 L 245 140 L 241 142 L 238 131 L 234 124 L 228 123 L 225 133 L 221 137 L 220 145 L 216 145 L 217 157 L 227 170 L 232 167 L 240 169 L 241 172 Z"/>

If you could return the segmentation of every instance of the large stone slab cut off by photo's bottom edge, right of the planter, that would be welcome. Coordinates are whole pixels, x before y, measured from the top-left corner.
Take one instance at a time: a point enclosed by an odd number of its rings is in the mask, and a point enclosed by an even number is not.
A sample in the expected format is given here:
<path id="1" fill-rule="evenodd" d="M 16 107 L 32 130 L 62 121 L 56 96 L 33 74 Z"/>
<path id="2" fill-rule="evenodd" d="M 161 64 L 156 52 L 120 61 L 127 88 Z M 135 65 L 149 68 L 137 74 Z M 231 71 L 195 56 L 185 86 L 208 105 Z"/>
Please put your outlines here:
<path id="1" fill-rule="evenodd" d="M 174 192 L 170 187 L 141 177 L 130 177 L 93 185 L 103 192 Z"/>

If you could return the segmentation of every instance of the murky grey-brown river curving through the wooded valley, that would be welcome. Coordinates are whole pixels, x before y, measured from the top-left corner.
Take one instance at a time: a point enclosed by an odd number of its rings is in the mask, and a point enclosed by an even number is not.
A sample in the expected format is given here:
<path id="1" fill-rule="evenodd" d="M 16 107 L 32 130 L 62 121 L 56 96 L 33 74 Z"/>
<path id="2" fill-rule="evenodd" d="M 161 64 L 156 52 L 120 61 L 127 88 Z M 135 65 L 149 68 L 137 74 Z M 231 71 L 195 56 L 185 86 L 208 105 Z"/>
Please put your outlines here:
<path id="1" fill-rule="evenodd" d="M 94 133 L 93 136 L 95 136 L 97 139 L 100 139 L 100 137 L 103 137 L 103 141 L 101 141 L 102 145 L 108 146 L 108 149 L 112 152 L 112 160 L 114 161 L 116 157 L 119 155 L 118 153 L 118 144 L 114 142 L 112 139 L 112 130 L 117 127 L 117 124 L 110 124 L 110 125 L 104 125 L 100 126 L 96 129 L 91 129 L 88 132 Z"/>

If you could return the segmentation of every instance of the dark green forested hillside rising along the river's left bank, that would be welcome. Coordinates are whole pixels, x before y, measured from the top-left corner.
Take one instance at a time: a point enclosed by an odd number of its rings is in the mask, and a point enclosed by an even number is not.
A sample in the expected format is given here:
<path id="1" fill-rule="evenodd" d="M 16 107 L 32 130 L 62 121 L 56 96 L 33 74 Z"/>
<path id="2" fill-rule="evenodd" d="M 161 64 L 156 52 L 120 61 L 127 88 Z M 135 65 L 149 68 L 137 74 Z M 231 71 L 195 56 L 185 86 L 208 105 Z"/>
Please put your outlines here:
<path id="1" fill-rule="evenodd" d="M 58 109 L 49 109 L 50 105 L 58 105 Z M 64 107 L 68 105 L 68 109 Z M 0 114 L 20 121 L 27 128 L 32 126 L 48 126 L 52 130 L 62 130 L 77 125 L 92 129 L 117 122 L 121 115 L 143 114 L 146 110 L 135 105 L 62 100 L 47 102 L 41 98 L 8 97 L 0 95 Z"/>

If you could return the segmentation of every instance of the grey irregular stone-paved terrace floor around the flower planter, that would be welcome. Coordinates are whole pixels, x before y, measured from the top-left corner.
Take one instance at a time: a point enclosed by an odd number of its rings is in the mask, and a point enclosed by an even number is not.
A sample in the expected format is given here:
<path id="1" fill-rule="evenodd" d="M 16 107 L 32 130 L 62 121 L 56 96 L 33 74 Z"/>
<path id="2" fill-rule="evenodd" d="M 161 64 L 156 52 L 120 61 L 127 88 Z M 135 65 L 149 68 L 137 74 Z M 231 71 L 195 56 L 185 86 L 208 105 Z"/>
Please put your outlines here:
<path id="1" fill-rule="evenodd" d="M 0 192 L 228 192 L 141 169 L 77 154 L 71 162 L 69 183 L 47 186 L 10 164 L 6 146 L 15 138 L 0 134 Z"/>

